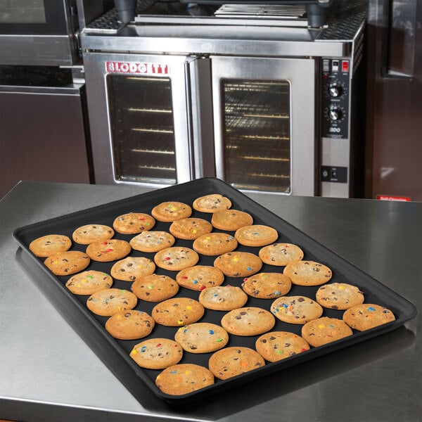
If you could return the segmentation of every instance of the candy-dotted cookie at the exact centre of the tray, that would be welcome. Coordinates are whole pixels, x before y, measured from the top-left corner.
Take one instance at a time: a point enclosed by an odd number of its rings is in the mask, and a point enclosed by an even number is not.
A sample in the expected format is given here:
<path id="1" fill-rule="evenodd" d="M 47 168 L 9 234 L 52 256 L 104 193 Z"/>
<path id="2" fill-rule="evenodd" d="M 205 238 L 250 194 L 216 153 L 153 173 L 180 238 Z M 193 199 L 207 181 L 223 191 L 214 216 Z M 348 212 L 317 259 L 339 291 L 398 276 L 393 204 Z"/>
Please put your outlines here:
<path id="1" fill-rule="evenodd" d="M 218 268 L 210 265 L 194 265 L 179 271 L 176 281 L 181 287 L 200 291 L 209 287 L 221 286 L 224 274 Z"/>

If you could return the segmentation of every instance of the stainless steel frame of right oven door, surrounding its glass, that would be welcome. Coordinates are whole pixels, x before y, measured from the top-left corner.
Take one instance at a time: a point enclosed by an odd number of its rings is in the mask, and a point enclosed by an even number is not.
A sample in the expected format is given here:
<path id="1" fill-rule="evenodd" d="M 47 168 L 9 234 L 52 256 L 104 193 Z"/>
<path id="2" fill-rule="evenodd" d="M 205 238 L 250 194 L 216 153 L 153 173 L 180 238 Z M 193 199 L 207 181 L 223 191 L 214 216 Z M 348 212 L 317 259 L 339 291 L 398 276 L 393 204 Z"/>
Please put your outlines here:
<path id="1" fill-rule="evenodd" d="M 307 58 L 219 56 L 212 56 L 211 61 L 217 177 L 225 180 L 227 176 L 224 169 L 222 80 L 287 81 L 290 84 L 290 189 L 288 194 L 315 195 L 315 61 Z M 264 165 L 265 163 L 263 167 Z"/>

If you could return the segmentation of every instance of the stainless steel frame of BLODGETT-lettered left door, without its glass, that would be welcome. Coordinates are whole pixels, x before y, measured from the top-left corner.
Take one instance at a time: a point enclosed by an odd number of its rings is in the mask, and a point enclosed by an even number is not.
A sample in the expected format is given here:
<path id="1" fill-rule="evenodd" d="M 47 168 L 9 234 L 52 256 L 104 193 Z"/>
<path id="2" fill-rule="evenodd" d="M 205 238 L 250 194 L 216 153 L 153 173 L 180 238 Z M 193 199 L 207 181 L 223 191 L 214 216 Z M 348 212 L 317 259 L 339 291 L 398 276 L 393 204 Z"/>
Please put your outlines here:
<path id="1" fill-rule="evenodd" d="M 84 55 L 85 77 L 87 81 L 87 99 L 89 122 L 91 127 L 91 145 L 94 160 L 94 175 L 98 184 L 138 184 L 143 186 L 168 186 L 166 181 L 130 181 L 120 180 L 116 176 L 115 156 L 113 154 L 112 122 L 110 121 L 110 103 L 107 89 L 108 75 L 139 76 L 143 65 L 153 64 L 155 68 L 166 68 L 165 73 L 141 73 L 147 77 L 169 78 L 172 90 L 172 113 L 174 124 L 174 155 L 176 180 L 182 183 L 192 179 L 193 154 L 188 124 L 188 88 L 186 69 L 195 66 L 196 58 L 188 56 L 154 56 L 142 54 L 87 53 Z M 107 68 L 107 63 L 116 65 L 115 70 Z M 129 65 L 130 64 L 130 65 Z M 131 70 L 132 68 L 132 70 Z M 141 95 L 141 90 L 139 95 Z"/>

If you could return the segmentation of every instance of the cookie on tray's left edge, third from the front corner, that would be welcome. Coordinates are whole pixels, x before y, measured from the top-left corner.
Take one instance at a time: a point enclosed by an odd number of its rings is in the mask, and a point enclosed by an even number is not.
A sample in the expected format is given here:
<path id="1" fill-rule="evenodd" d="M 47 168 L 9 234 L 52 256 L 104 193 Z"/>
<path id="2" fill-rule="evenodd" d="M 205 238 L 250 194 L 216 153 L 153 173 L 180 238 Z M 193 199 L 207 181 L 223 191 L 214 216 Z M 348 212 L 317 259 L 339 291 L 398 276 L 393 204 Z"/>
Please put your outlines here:
<path id="1" fill-rule="evenodd" d="M 155 321 L 146 312 L 129 310 L 117 312 L 106 321 L 106 330 L 119 340 L 136 340 L 150 335 Z"/>

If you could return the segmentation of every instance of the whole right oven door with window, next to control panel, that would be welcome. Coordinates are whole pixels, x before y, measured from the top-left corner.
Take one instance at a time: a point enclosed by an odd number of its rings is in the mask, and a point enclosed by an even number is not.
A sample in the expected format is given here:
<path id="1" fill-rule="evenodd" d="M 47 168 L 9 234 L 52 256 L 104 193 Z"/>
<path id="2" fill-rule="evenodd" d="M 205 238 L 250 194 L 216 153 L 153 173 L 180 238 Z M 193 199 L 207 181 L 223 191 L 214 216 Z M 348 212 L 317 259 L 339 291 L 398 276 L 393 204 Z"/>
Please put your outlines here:
<path id="1" fill-rule="evenodd" d="M 246 191 L 316 191 L 315 62 L 212 57 L 217 177 Z"/>

